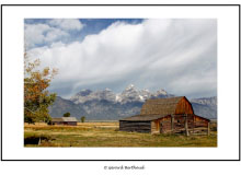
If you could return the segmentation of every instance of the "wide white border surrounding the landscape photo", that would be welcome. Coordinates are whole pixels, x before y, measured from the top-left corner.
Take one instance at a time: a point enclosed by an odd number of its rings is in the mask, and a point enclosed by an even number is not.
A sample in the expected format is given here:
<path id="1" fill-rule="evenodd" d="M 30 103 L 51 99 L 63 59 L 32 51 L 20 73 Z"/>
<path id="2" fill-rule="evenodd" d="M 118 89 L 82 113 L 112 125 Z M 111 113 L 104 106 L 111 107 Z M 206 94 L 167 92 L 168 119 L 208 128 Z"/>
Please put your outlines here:
<path id="1" fill-rule="evenodd" d="M 240 161 L 240 5 L 2 5 L 1 160 Z M 125 12 L 124 12 L 125 11 Z M 67 12 L 67 13 L 65 13 Z M 24 19 L 217 19 L 217 148 L 24 148 Z M 14 50 L 14 51 L 13 51 Z M 231 102 L 231 105 L 230 105 Z M 14 108 L 14 109 L 13 109 Z M 21 115 L 22 114 L 22 115 Z M 231 117 L 231 119 L 227 119 Z M 14 128 L 14 129 L 13 129 Z M 232 133 L 232 137 L 230 135 Z M 141 152 L 142 154 L 139 154 Z M 151 154 L 154 152 L 156 154 Z M 90 154 L 91 153 L 91 154 Z"/>

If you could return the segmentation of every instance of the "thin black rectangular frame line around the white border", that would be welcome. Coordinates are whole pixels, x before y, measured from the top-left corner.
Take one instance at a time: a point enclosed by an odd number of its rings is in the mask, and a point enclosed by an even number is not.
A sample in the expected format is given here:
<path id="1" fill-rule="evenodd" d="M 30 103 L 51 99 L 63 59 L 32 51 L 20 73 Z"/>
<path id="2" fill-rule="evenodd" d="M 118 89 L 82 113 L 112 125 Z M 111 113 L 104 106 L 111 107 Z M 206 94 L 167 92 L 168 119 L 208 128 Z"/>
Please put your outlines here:
<path id="1" fill-rule="evenodd" d="M 4 160 L 2 158 L 2 9 L 3 7 L 239 7 L 239 106 L 240 106 L 240 4 L 1 4 L 1 161 L 84 161 L 84 162 L 233 162 L 240 161 L 240 107 L 239 107 L 239 159 L 238 160 Z"/>

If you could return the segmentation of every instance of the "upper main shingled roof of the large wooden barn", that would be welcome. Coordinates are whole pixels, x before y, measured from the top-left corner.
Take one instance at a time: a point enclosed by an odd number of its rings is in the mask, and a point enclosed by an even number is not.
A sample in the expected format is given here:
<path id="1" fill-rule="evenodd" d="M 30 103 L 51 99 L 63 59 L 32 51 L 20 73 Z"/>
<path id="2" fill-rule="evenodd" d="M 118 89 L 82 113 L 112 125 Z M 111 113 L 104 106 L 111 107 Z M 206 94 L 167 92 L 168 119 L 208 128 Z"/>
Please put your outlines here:
<path id="1" fill-rule="evenodd" d="M 179 102 L 184 96 L 148 100 L 141 108 L 141 115 L 169 115 L 175 114 Z"/>

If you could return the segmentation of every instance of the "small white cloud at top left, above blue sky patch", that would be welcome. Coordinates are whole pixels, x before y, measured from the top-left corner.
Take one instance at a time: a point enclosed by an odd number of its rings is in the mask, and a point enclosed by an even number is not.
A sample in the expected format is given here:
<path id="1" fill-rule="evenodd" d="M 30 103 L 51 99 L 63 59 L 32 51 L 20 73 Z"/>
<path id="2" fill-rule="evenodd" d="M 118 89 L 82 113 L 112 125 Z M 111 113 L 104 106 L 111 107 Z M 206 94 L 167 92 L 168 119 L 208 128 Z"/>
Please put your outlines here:
<path id="1" fill-rule="evenodd" d="M 48 22 L 49 25 L 60 27 L 62 30 L 82 30 L 84 26 L 78 19 L 54 19 Z"/>

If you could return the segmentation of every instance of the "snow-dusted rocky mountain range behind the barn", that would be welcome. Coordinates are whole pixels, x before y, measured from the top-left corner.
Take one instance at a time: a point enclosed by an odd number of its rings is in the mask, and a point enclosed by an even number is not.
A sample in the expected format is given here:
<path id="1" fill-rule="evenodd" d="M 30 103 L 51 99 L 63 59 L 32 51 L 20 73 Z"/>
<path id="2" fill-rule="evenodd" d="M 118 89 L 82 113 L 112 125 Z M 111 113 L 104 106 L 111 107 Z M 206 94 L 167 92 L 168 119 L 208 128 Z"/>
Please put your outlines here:
<path id="1" fill-rule="evenodd" d="M 124 117 L 137 115 L 146 100 L 173 97 L 164 90 L 150 92 L 137 90 L 133 84 L 122 93 L 116 94 L 110 89 L 102 91 L 81 90 L 79 93 L 65 100 L 57 96 L 49 107 L 51 117 L 61 117 L 69 112 L 71 116 L 80 118 L 85 116 L 88 120 L 118 120 Z M 217 97 L 202 97 L 190 100 L 194 113 L 209 119 L 217 118 Z"/>

